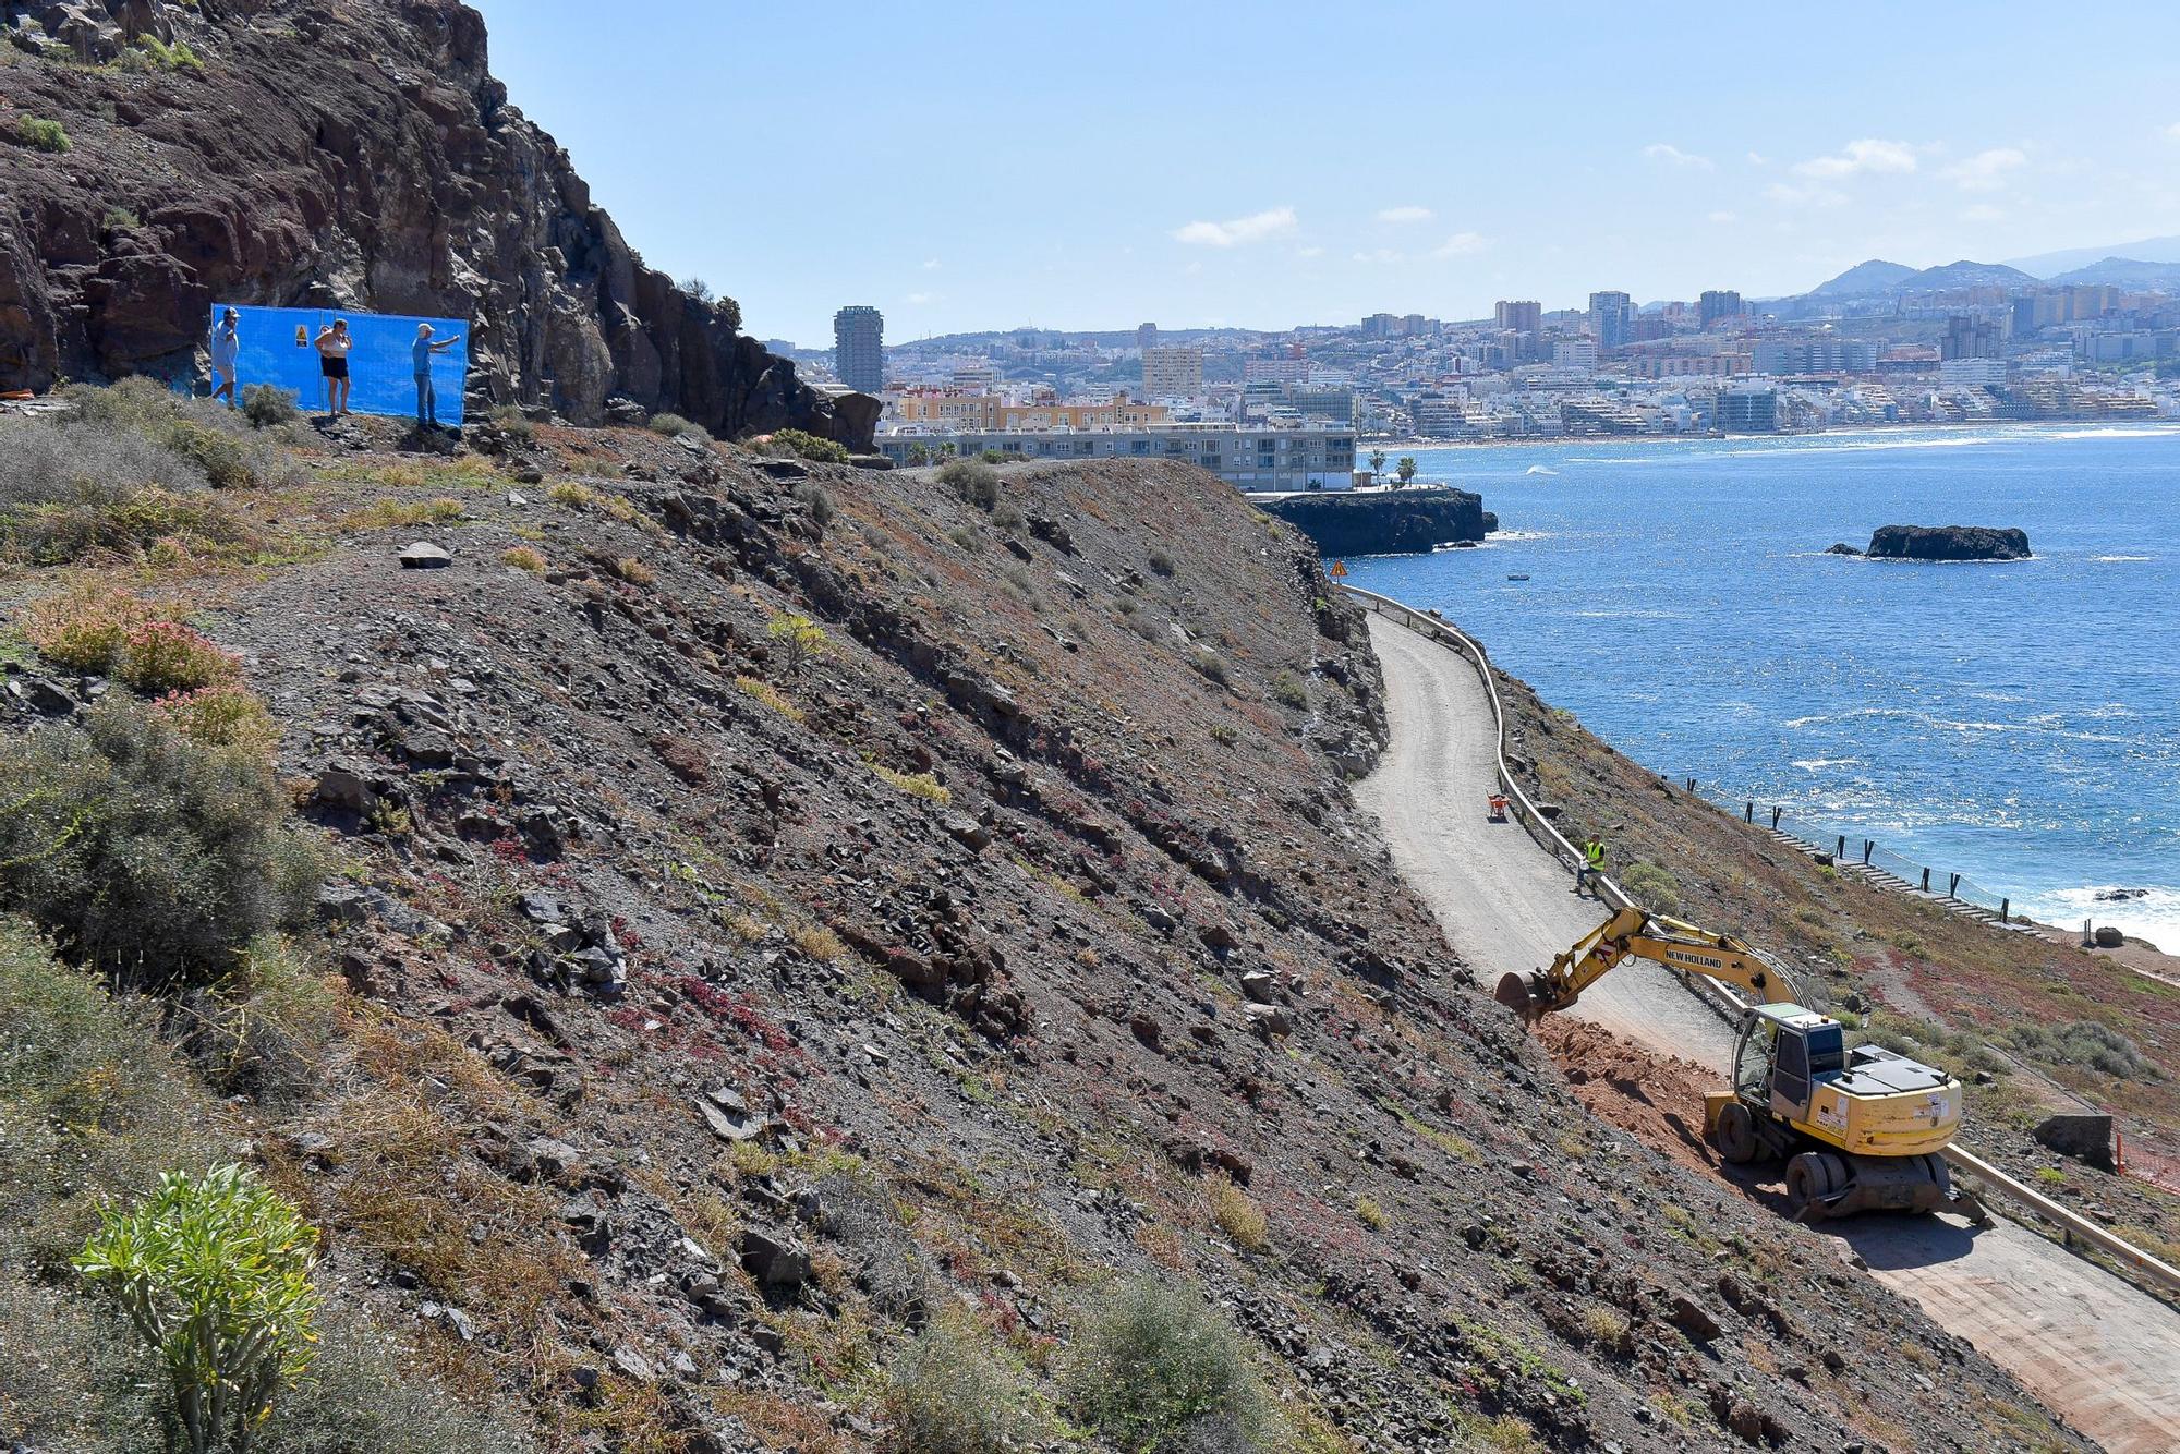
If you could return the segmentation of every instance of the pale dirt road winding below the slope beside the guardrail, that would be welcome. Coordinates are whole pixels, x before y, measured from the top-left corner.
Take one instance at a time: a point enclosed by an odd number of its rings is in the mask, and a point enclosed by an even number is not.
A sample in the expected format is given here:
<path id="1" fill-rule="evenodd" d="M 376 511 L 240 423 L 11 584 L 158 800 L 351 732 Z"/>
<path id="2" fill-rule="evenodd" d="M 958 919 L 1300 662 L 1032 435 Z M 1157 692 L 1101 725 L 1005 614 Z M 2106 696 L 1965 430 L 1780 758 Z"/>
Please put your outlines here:
<path id="1" fill-rule="evenodd" d="M 1448 942 L 1491 985 L 1533 970 L 1602 909 L 1517 824 L 1485 820 L 1493 787 L 1491 704 L 1454 652 L 1371 617 L 1393 748 L 1358 798 Z M 1655 966 L 1613 970 L 1574 1007 L 1615 1035 L 1713 1068 L 1727 1027 Z M 1840 1256 L 1969 1338 L 2075 1428 L 2121 1454 L 2180 1450 L 2180 1314 L 2045 1238 L 1997 1221 L 1860 1219 L 1833 1229 Z"/>

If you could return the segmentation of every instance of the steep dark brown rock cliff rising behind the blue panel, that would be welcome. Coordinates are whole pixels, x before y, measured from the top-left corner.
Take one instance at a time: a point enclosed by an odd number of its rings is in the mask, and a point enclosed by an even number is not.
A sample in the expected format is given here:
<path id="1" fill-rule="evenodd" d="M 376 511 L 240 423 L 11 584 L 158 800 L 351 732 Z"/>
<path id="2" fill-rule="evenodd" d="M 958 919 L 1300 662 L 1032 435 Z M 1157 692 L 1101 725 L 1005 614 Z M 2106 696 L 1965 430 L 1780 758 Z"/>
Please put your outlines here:
<path id="1" fill-rule="evenodd" d="M 185 373 L 216 299 L 336 305 L 469 318 L 495 403 L 870 438 L 876 401 L 643 266 L 467 4 L 9 0 L 0 24 L 0 388 Z"/>

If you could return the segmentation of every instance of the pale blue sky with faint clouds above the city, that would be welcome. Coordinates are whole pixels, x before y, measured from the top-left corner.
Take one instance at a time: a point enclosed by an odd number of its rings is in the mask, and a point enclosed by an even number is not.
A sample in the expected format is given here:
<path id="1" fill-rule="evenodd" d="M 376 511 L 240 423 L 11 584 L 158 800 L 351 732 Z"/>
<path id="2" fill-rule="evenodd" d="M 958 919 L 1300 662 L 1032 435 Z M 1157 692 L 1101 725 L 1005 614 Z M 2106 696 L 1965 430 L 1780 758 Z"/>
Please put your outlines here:
<path id="1" fill-rule="evenodd" d="M 1472 318 L 2180 233 L 2180 4 L 477 0 L 763 338 Z"/>

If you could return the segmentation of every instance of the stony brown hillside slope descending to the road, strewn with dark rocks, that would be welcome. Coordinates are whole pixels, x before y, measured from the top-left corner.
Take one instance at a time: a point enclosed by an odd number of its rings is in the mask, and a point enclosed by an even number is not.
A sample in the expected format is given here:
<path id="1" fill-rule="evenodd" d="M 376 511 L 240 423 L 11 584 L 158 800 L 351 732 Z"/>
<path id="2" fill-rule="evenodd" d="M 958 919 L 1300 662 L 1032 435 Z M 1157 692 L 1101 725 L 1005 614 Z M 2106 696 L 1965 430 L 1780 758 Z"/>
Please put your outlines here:
<path id="1" fill-rule="evenodd" d="M 211 497 L 255 569 L 198 519 L 109 582 L 205 602 L 340 863 L 296 933 L 336 1014 L 279 1094 L 207 1055 L 218 1114 L 340 1310 L 543 1447 L 961 1447 L 903 1432 L 916 1389 L 1057 1402 L 1101 1432 L 1014 1447 L 1086 1454 L 2080 1447 L 1587 1116 L 1349 796 L 1358 613 L 1210 475 L 964 499 L 643 429 L 296 436 L 305 484 Z M 76 695 L 31 663 L 0 715 L 70 732 Z M 1125 1275 L 1210 1295 L 1286 1443 L 1099 1413 Z M 76 1408 L 26 1443 L 116 1447 Z"/>

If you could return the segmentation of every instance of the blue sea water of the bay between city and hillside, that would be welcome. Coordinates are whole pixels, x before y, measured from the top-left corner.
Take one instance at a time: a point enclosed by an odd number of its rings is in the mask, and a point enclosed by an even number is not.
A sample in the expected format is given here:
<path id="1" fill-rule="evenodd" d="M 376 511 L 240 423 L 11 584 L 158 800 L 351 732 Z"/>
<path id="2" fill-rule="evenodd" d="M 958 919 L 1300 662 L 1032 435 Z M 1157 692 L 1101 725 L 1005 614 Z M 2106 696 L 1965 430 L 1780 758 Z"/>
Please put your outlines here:
<path id="1" fill-rule="evenodd" d="M 2180 953 L 2180 427 L 1404 453 L 1500 532 L 1352 560 L 1354 584 L 1437 606 L 1707 796 Z M 1890 523 L 2019 525 L 2036 558 L 1822 554 Z"/>

